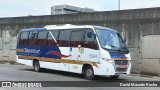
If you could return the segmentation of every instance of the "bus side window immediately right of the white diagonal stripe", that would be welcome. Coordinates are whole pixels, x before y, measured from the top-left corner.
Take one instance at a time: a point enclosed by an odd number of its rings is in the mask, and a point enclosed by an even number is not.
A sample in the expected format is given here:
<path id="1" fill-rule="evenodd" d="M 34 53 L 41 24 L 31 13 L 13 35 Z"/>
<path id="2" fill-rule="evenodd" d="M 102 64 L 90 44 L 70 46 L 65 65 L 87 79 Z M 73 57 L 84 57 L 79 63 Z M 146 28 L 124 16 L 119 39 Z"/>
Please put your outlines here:
<path id="1" fill-rule="evenodd" d="M 60 47 L 69 47 L 70 30 L 61 30 L 59 34 L 58 44 Z"/>

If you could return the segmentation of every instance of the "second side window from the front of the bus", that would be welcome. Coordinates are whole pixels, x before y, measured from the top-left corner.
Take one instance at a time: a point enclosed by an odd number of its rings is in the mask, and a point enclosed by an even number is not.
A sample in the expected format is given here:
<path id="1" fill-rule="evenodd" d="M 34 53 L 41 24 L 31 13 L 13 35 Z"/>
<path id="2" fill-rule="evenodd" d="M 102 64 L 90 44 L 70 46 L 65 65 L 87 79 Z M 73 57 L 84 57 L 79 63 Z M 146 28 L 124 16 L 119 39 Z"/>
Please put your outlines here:
<path id="1" fill-rule="evenodd" d="M 82 45 L 83 34 L 82 30 L 72 31 L 70 47 L 78 47 L 78 45 Z"/>

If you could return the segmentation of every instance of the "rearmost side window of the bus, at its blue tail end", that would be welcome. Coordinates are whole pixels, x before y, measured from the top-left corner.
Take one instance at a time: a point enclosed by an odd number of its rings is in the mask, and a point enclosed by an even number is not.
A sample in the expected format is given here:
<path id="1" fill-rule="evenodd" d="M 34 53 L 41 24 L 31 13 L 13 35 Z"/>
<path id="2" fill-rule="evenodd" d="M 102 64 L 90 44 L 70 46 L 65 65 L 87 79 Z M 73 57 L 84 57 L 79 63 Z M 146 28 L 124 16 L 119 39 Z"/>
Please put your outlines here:
<path id="1" fill-rule="evenodd" d="M 28 44 L 29 32 L 22 32 L 19 38 L 19 46 Z"/>

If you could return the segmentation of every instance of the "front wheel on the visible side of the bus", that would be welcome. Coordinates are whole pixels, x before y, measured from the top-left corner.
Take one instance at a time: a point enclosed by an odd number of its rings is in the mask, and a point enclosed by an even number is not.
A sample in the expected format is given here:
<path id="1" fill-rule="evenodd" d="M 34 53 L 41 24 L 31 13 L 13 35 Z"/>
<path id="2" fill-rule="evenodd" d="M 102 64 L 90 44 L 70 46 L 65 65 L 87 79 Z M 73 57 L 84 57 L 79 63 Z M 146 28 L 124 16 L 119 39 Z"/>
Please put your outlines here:
<path id="1" fill-rule="evenodd" d="M 88 80 L 93 80 L 94 79 L 94 71 L 92 66 L 87 66 L 85 70 L 85 78 Z"/>

